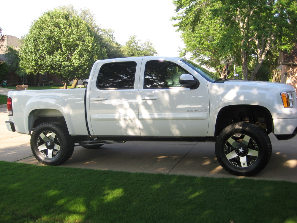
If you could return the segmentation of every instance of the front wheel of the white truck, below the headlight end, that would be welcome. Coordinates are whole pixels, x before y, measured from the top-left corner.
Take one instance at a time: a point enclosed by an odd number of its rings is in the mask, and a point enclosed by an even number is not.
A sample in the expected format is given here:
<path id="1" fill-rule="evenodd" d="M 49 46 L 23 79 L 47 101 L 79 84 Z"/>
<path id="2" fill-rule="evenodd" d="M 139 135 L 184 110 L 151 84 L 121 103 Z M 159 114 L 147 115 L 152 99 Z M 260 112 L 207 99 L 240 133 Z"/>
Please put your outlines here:
<path id="1" fill-rule="evenodd" d="M 266 132 L 249 122 L 233 123 L 218 136 L 215 152 L 221 166 L 231 174 L 252 176 L 260 172 L 271 157 Z"/>

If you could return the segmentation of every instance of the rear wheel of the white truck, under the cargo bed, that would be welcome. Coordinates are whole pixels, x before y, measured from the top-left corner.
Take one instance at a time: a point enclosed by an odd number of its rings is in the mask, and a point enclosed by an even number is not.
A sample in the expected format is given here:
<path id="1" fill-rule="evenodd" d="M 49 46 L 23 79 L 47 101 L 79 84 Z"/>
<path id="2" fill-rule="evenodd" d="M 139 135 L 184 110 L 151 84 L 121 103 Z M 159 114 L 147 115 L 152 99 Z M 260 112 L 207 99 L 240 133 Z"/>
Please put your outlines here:
<path id="1" fill-rule="evenodd" d="M 64 125 L 46 122 L 34 129 L 31 150 L 40 163 L 56 166 L 72 156 L 74 142 Z"/>

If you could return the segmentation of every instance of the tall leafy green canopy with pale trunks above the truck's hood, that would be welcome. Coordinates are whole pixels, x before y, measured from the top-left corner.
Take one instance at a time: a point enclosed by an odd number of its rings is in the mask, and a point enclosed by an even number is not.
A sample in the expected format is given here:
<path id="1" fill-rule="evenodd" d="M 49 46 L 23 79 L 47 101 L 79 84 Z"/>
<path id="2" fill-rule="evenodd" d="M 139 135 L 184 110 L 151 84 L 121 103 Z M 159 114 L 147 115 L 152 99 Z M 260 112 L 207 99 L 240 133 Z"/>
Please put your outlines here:
<path id="1" fill-rule="evenodd" d="M 291 49 L 297 35 L 297 4 L 291 0 L 176 0 L 186 45 L 198 62 L 221 69 L 222 61 L 241 62 L 245 80 L 253 80 L 269 50 Z M 248 77 L 248 63 L 254 67 Z"/>

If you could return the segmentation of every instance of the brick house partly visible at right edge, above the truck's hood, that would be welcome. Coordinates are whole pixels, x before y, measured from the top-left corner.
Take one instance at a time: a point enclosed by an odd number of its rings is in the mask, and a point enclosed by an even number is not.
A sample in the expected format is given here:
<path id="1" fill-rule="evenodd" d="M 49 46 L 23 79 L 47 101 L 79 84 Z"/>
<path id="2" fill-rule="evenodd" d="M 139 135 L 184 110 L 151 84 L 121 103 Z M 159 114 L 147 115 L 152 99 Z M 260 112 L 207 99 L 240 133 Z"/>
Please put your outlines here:
<path id="1" fill-rule="evenodd" d="M 297 90 L 297 43 L 294 49 L 279 52 L 278 67 L 281 70 L 281 82 L 291 84 Z"/>

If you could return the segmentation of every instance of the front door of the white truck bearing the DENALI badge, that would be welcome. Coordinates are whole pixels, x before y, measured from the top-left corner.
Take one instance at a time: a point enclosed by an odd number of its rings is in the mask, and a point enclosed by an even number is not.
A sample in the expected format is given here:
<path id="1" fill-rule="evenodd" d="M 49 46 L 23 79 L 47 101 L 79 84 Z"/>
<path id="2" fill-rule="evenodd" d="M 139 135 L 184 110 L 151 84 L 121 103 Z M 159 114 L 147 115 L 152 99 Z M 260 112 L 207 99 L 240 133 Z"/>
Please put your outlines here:
<path id="1" fill-rule="evenodd" d="M 139 84 L 139 122 L 142 136 L 206 136 L 209 95 L 199 74 L 196 89 L 179 83 L 181 74 L 195 73 L 179 59 L 143 58 Z M 193 75 L 191 74 L 191 75 Z"/>

